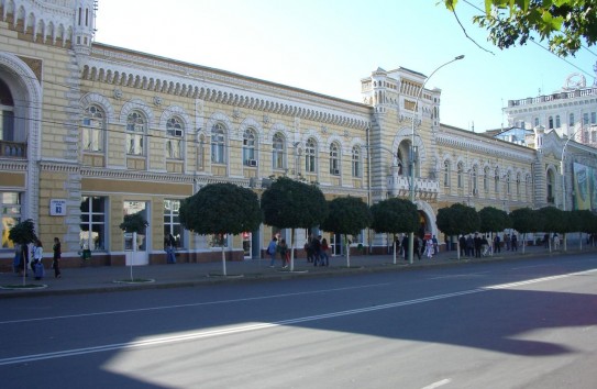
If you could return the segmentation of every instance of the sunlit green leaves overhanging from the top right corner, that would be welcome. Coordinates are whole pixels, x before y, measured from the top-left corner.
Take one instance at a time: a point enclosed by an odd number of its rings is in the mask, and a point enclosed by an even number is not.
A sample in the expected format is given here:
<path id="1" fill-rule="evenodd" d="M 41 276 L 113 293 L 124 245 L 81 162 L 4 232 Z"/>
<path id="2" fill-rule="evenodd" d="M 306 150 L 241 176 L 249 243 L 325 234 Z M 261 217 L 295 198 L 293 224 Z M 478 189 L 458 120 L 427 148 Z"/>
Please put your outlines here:
<path id="1" fill-rule="evenodd" d="M 457 0 L 442 0 L 455 12 Z M 559 56 L 575 55 L 597 42 L 597 8 L 587 0 L 485 0 L 485 12 L 473 23 L 488 31 L 500 49 L 524 45 L 534 35 Z"/>

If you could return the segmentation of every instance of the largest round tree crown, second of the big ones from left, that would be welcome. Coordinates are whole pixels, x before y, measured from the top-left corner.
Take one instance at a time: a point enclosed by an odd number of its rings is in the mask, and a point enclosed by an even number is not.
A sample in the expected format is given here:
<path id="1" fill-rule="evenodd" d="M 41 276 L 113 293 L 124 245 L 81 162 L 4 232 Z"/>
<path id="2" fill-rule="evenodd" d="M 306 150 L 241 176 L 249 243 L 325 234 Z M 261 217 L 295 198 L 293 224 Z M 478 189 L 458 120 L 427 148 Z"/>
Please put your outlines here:
<path id="1" fill-rule="evenodd" d="M 279 229 L 310 229 L 328 218 L 328 202 L 319 187 L 279 177 L 262 194 L 264 221 Z"/>

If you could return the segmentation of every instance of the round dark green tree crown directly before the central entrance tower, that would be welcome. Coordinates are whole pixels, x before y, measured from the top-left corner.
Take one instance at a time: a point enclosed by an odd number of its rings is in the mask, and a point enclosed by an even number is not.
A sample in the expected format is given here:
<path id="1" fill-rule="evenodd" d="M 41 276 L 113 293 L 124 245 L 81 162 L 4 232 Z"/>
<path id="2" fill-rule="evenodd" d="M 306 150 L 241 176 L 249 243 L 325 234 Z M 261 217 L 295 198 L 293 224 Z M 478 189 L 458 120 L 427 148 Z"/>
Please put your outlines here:
<path id="1" fill-rule="evenodd" d="M 372 229 L 377 233 L 416 232 L 419 227 L 417 205 L 409 200 L 390 198 L 373 204 Z"/>

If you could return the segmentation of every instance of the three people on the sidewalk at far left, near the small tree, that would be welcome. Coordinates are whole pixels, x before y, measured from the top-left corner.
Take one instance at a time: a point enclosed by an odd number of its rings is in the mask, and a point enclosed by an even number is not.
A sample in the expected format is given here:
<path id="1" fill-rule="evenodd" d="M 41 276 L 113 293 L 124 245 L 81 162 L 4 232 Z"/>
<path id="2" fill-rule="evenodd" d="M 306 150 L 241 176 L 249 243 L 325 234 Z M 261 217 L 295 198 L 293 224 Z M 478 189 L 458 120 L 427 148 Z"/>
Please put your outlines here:
<path id="1" fill-rule="evenodd" d="M 60 256 L 62 245 L 58 237 L 54 238 L 54 246 L 52 247 L 52 268 L 54 269 L 54 277 L 60 278 Z M 44 246 L 40 240 L 33 242 L 31 251 L 26 244 L 14 244 L 14 259 L 13 269 L 20 277 L 29 277 L 27 265 L 31 268 L 33 277 L 36 280 L 41 280 L 45 277 L 45 267 L 43 263 Z M 31 262 L 30 262 L 31 258 Z"/>

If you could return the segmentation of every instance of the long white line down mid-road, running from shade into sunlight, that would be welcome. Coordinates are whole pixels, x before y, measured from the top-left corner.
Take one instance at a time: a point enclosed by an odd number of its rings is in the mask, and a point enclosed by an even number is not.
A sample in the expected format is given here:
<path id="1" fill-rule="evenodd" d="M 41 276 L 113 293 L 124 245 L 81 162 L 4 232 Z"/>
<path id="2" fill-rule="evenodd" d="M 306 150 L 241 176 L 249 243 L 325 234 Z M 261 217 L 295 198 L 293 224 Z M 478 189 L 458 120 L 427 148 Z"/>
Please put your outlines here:
<path id="1" fill-rule="evenodd" d="M 360 314 L 364 312 L 372 312 L 372 311 L 379 311 L 379 310 L 393 309 L 393 308 L 398 308 L 398 307 L 420 304 L 423 302 L 449 299 L 449 298 L 458 297 L 458 296 L 475 294 L 475 293 L 482 293 L 482 292 L 487 292 L 487 291 L 493 291 L 493 290 L 513 288 L 521 285 L 530 285 L 530 284 L 537 284 L 537 282 L 551 281 L 555 279 L 563 279 L 563 278 L 583 275 L 583 274 L 589 274 L 594 271 L 597 271 L 597 269 L 565 274 L 561 276 L 535 278 L 535 279 L 530 279 L 530 280 L 520 281 L 520 282 L 510 282 L 510 284 L 501 284 L 501 285 L 495 285 L 495 286 L 489 286 L 489 287 L 482 287 L 482 288 L 464 290 L 460 292 L 430 296 L 430 297 L 424 297 L 420 299 L 398 301 L 398 302 L 393 302 L 393 303 L 382 304 L 382 305 L 376 305 L 376 307 L 366 307 L 366 308 L 352 309 L 347 311 L 318 314 L 313 316 L 296 318 L 296 319 L 273 322 L 273 323 L 236 325 L 236 326 L 222 327 L 222 329 L 209 330 L 209 331 L 197 331 L 197 332 L 192 332 L 192 333 L 188 333 L 184 335 L 147 338 L 145 341 L 139 341 L 139 342 L 115 343 L 115 344 L 108 344 L 108 345 L 101 345 L 101 346 L 95 346 L 95 347 L 65 349 L 65 351 L 59 351 L 59 352 L 54 352 L 54 353 L 43 353 L 43 354 L 22 355 L 22 356 L 15 356 L 15 357 L 0 358 L 0 366 L 32 363 L 32 362 L 44 360 L 44 359 L 53 359 L 53 358 L 64 358 L 64 357 L 69 357 L 69 356 L 75 356 L 75 355 L 103 353 L 103 352 L 117 351 L 117 349 L 131 349 L 131 348 L 146 347 L 146 346 L 152 346 L 152 345 L 157 345 L 157 344 L 188 342 L 192 340 L 221 336 L 221 335 L 237 334 L 242 332 L 257 331 L 257 330 L 290 325 L 290 324 L 296 324 L 296 323 L 324 320 L 324 319 L 330 319 L 330 318 L 347 316 L 347 315 Z"/>

